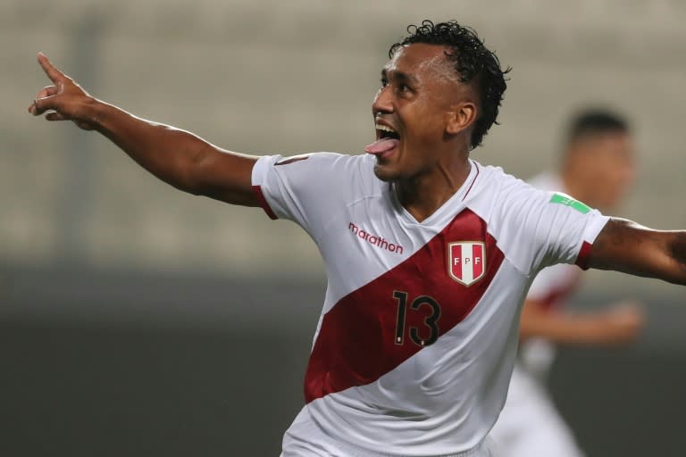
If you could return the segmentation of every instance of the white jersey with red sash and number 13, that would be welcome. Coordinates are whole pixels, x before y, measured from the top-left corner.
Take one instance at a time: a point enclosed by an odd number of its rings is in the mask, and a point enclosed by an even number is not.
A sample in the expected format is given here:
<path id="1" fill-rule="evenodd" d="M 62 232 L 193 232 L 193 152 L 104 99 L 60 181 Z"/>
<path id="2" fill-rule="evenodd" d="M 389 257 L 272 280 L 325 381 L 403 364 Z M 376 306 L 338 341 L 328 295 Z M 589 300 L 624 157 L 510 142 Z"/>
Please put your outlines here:
<path id="1" fill-rule="evenodd" d="M 584 262 L 607 218 L 471 161 L 421 223 L 371 155 L 266 156 L 253 186 L 328 273 L 283 455 L 474 455 L 505 401 L 518 317 L 544 267 Z"/>

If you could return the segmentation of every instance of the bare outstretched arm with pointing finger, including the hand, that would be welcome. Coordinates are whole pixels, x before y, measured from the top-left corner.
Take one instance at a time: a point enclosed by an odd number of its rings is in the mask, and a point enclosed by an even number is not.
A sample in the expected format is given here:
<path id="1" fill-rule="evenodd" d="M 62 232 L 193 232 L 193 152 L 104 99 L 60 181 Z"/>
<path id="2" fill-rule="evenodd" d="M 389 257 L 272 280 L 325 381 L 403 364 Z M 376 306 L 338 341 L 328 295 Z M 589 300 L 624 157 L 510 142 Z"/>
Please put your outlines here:
<path id="1" fill-rule="evenodd" d="M 31 114 L 47 112 L 47 120 L 72 120 L 81 129 L 100 132 L 173 187 L 230 204 L 259 204 L 251 185 L 257 157 L 230 153 L 186 131 L 133 116 L 88 95 L 45 55 L 38 54 L 38 63 L 53 85 L 38 92 Z"/>

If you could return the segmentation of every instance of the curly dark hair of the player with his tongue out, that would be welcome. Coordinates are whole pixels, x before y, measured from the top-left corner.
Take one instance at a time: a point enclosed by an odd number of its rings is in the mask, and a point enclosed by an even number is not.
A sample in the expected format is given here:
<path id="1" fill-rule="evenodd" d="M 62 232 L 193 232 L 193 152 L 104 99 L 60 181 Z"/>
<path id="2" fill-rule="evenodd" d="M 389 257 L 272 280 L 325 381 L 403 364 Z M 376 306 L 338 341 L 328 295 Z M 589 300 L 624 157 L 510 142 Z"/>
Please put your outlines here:
<path id="1" fill-rule="evenodd" d="M 389 49 L 389 58 L 402 46 L 414 43 L 446 46 L 446 57 L 455 62 L 455 70 L 463 83 L 473 83 L 479 93 L 481 105 L 472 132 L 472 149 L 481 145 L 490 126 L 498 124 L 498 107 L 507 88 L 506 74 L 511 71 L 500 68 L 500 61 L 483 44 L 474 29 L 461 26 L 457 21 L 439 22 L 424 20 L 422 25 L 407 26 L 409 35 Z"/>

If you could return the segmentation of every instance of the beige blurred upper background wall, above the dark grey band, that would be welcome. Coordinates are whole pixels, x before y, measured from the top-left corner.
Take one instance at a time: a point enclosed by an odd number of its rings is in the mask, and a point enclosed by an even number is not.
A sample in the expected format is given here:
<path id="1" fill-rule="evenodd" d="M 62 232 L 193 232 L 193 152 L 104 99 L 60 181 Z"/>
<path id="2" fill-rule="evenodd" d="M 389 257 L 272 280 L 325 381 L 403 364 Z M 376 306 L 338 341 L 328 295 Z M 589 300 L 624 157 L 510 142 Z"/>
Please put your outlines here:
<path id="1" fill-rule="evenodd" d="M 181 194 L 102 137 L 31 119 L 26 107 L 47 84 L 35 54 L 77 80 L 89 69 L 87 88 L 100 98 L 229 149 L 358 154 L 373 137 L 370 104 L 388 46 L 423 18 L 472 25 L 514 68 L 502 125 L 474 158 L 527 178 L 555 165 L 571 111 L 608 104 L 631 117 L 640 145 L 622 215 L 686 226 L 682 0 L 4 0 L 0 261 L 60 261 L 71 237 L 76 261 L 98 267 L 321 276 L 314 244 L 293 224 Z M 65 225 L 65 213 L 78 224 Z M 589 276 L 591 289 L 681 294 Z"/>

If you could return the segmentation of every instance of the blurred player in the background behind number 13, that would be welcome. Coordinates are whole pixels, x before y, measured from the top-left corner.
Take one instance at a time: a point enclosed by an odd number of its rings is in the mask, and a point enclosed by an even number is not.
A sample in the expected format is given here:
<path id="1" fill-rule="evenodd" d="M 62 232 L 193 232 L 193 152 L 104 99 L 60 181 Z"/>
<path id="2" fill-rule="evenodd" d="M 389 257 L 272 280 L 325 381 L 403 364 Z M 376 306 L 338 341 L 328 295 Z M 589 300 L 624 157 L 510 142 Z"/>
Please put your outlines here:
<path id="1" fill-rule="evenodd" d="M 628 122 L 607 110 L 580 112 L 570 122 L 562 159 L 559 173 L 543 173 L 531 179 L 531 185 L 611 210 L 635 173 Z M 641 328 L 642 314 L 632 303 L 605 312 L 561 312 L 580 277 L 580 269 L 561 263 L 542 270 L 531 285 L 506 404 L 490 434 L 503 457 L 581 456 L 545 387 L 554 344 L 628 343 Z"/>

